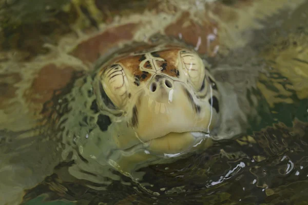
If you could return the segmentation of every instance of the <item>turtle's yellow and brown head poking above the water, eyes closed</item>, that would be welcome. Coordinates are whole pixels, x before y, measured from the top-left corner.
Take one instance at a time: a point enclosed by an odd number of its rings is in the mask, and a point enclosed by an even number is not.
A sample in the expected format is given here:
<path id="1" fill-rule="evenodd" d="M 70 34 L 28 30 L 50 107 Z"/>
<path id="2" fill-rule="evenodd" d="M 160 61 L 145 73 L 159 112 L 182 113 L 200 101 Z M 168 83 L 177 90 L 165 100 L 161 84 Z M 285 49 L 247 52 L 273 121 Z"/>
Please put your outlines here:
<path id="1" fill-rule="evenodd" d="M 220 95 L 207 66 L 195 51 L 166 45 L 124 53 L 101 66 L 99 107 L 134 133 L 117 137 L 119 147 L 147 144 L 151 151 L 179 153 L 209 134 L 219 119 Z"/>

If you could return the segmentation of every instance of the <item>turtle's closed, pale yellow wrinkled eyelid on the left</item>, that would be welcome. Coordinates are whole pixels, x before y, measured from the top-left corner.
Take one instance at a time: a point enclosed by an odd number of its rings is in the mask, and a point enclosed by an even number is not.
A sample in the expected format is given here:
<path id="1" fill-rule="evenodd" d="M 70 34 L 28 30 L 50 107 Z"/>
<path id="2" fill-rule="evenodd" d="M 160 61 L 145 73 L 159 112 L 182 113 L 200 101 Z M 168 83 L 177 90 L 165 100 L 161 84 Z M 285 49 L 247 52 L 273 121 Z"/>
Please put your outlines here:
<path id="1" fill-rule="evenodd" d="M 101 73 L 100 93 L 109 109 L 122 109 L 128 99 L 128 80 L 119 64 L 109 66 Z"/>

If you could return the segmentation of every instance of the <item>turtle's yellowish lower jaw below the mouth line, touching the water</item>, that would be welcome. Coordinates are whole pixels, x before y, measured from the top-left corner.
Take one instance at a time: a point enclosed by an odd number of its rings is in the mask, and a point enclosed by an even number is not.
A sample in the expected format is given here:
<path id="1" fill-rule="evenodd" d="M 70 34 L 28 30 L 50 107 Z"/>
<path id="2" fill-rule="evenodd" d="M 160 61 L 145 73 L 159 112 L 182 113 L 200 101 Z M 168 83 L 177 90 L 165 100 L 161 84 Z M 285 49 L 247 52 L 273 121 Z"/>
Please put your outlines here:
<path id="1" fill-rule="evenodd" d="M 203 132 L 170 132 L 167 135 L 140 142 L 125 149 L 111 152 L 108 158 L 114 166 L 117 159 L 117 169 L 130 176 L 134 170 L 152 165 L 153 163 L 174 162 L 199 150 L 205 150 L 213 145 L 213 140 Z"/>

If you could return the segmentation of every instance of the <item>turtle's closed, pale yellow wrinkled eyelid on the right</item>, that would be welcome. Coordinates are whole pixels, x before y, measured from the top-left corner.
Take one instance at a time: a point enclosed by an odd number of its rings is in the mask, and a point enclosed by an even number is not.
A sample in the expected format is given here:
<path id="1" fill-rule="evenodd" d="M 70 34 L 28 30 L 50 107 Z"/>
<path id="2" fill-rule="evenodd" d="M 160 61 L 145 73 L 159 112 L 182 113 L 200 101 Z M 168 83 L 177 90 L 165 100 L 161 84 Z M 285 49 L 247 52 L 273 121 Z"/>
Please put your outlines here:
<path id="1" fill-rule="evenodd" d="M 180 52 L 184 73 L 189 77 L 190 83 L 196 90 L 203 86 L 205 68 L 198 54 L 183 50 Z"/>

